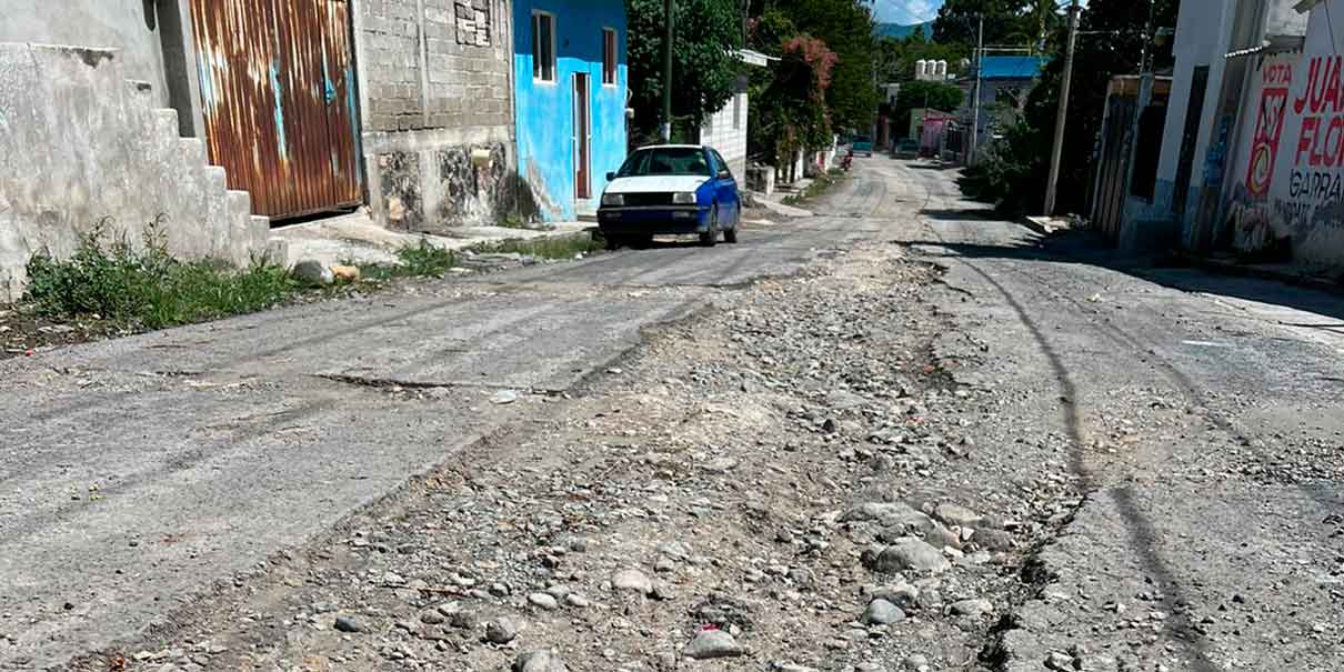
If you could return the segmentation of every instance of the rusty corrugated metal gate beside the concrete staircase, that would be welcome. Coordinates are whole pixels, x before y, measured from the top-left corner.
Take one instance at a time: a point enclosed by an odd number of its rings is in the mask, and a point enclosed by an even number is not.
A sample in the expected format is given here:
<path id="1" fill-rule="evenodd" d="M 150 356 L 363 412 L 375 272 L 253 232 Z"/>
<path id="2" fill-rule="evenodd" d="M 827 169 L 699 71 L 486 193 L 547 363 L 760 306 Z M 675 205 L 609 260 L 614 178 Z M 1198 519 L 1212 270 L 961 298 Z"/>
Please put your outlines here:
<path id="1" fill-rule="evenodd" d="M 363 199 L 347 0 L 191 0 L 210 160 L 274 219 Z"/>

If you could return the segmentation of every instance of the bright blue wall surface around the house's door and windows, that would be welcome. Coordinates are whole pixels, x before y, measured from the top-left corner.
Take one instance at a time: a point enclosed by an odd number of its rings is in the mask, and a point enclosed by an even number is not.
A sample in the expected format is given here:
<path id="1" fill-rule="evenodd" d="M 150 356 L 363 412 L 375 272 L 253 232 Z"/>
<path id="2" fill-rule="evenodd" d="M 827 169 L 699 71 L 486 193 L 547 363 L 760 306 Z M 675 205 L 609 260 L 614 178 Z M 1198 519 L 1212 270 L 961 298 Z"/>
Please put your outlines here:
<path id="1" fill-rule="evenodd" d="M 555 82 L 532 81 L 532 11 L 555 16 Z M 602 86 L 602 28 L 617 31 L 616 86 Z M 587 73 L 593 114 L 593 203 L 574 199 L 574 74 Z M 578 219 L 595 210 L 606 173 L 625 160 L 625 1 L 515 0 L 513 81 L 517 110 L 517 172 L 542 219 Z"/>

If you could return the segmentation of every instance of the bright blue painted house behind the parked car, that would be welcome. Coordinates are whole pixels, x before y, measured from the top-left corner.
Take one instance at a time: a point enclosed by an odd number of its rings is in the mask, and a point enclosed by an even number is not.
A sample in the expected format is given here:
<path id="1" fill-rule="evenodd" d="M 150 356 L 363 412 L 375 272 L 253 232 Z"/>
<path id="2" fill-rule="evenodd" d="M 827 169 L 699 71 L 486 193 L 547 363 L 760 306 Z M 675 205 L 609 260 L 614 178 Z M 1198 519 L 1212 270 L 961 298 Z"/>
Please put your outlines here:
<path id="1" fill-rule="evenodd" d="M 515 0 L 513 82 L 517 172 L 536 215 L 595 212 L 626 151 L 624 0 Z"/>

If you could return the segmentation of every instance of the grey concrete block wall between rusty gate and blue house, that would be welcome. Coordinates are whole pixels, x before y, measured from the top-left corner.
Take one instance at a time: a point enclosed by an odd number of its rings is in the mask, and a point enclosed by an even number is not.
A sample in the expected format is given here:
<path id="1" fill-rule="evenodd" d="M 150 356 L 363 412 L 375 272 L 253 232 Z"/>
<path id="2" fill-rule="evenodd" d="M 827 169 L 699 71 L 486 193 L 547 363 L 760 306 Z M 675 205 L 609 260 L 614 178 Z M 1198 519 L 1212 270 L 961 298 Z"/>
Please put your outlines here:
<path id="1" fill-rule="evenodd" d="M 366 0 L 355 12 L 375 218 L 390 228 L 445 231 L 511 214 L 511 1 Z"/>

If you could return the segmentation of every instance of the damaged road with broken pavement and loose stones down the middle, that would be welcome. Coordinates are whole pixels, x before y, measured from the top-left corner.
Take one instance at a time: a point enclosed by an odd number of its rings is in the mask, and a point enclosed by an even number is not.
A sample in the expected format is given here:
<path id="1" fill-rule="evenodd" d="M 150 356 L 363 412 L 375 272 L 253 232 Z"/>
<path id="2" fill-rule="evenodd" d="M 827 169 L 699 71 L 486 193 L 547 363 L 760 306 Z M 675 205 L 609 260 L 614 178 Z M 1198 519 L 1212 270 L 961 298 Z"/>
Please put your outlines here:
<path id="1" fill-rule="evenodd" d="M 0 364 L 0 668 L 1344 668 L 1344 304 L 952 177 Z"/>

